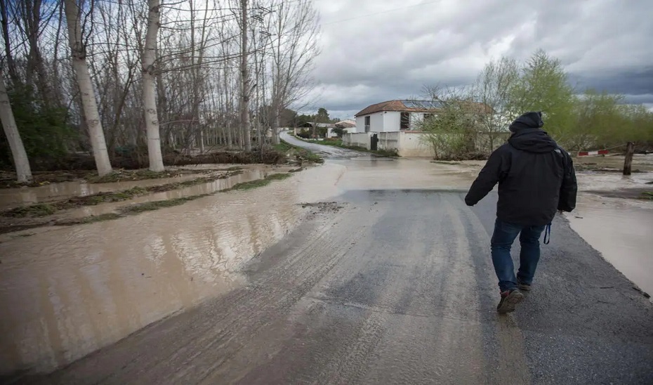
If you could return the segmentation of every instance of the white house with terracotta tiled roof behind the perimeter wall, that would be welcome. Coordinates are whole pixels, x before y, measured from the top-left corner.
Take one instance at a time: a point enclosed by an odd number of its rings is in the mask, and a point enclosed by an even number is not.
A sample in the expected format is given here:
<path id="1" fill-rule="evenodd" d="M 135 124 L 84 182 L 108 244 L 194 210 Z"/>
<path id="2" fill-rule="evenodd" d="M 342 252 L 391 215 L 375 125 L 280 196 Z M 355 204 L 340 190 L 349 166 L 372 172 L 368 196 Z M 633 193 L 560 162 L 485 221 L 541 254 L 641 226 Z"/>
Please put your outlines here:
<path id="1" fill-rule="evenodd" d="M 393 132 L 419 129 L 419 122 L 441 107 L 434 100 L 388 100 L 370 105 L 356 117 L 356 132 Z"/>

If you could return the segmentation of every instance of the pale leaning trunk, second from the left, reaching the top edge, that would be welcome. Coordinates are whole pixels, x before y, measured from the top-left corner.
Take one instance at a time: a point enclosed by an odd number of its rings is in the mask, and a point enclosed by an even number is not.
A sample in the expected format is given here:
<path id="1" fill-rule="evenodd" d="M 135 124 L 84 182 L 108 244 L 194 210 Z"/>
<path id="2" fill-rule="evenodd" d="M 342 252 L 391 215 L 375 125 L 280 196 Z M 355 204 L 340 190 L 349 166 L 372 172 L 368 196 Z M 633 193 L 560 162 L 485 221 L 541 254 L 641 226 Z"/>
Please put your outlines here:
<path id="1" fill-rule="evenodd" d="M 79 19 L 79 6 L 75 0 L 65 0 L 66 20 L 68 25 L 68 38 L 70 40 L 70 51 L 72 53 L 72 66 L 74 67 L 77 85 L 81 93 L 81 105 L 86 117 L 88 134 L 91 137 L 91 147 L 95 157 L 95 167 L 100 176 L 109 174 L 111 162 L 107 152 L 105 133 L 100 122 L 98 103 L 95 100 L 95 91 L 91 82 L 91 74 L 88 72 L 86 63 L 86 47 L 81 39 L 81 22 Z"/>

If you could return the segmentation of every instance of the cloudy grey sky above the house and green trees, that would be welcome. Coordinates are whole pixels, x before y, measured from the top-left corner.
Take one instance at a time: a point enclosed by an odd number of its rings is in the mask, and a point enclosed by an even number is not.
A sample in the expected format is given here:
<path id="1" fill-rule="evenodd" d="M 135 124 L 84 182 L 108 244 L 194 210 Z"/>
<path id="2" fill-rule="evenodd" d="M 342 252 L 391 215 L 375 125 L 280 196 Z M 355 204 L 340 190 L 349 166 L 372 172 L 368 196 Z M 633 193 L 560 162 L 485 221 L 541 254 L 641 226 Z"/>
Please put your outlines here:
<path id="1" fill-rule="evenodd" d="M 315 0 L 322 22 L 308 110 L 347 118 L 472 82 L 492 58 L 562 60 L 579 90 L 653 107 L 652 0 Z"/>

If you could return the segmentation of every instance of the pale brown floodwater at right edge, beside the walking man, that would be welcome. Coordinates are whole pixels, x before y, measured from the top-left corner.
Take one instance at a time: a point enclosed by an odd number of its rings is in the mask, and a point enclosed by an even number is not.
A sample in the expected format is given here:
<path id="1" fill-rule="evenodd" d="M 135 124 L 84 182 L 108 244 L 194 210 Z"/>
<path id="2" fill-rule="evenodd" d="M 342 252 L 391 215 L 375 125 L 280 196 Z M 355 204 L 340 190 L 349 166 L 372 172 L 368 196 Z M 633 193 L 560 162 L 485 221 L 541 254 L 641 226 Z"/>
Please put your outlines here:
<path id="1" fill-rule="evenodd" d="M 580 195 L 572 228 L 617 270 L 653 294 L 653 204 Z M 581 217 L 581 218 L 577 218 Z"/>

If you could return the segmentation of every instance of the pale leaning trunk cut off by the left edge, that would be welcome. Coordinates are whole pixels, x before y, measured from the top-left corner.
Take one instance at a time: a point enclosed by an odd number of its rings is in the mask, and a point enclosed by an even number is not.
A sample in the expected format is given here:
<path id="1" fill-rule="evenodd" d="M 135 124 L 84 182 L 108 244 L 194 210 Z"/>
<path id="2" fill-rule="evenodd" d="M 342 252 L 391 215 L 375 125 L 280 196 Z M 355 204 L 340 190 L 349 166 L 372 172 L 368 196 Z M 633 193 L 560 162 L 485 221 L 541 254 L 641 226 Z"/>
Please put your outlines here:
<path id="1" fill-rule="evenodd" d="M 16 121 L 13 118 L 13 111 L 9 103 L 9 96 L 7 89 L 4 85 L 4 74 L 0 72 L 0 121 L 4 128 L 4 134 L 7 136 L 9 148 L 11 148 L 11 155 L 13 155 L 13 163 L 16 167 L 16 174 L 18 174 L 18 182 L 27 183 L 32 181 L 32 169 L 29 167 L 29 159 L 27 159 L 27 152 L 25 146 L 22 145 L 20 133 Z"/>

